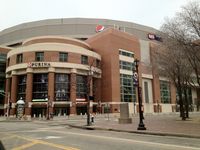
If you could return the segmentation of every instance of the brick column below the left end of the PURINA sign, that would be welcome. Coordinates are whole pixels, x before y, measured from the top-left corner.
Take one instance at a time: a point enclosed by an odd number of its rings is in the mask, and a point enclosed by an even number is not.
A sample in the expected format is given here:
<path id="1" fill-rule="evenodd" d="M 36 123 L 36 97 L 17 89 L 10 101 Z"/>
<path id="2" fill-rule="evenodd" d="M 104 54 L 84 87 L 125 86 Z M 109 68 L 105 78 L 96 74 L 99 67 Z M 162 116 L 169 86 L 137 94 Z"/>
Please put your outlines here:
<path id="1" fill-rule="evenodd" d="M 33 99 L 33 73 L 27 70 L 26 79 L 26 100 L 25 100 L 25 115 L 31 117 L 31 103 Z"/>

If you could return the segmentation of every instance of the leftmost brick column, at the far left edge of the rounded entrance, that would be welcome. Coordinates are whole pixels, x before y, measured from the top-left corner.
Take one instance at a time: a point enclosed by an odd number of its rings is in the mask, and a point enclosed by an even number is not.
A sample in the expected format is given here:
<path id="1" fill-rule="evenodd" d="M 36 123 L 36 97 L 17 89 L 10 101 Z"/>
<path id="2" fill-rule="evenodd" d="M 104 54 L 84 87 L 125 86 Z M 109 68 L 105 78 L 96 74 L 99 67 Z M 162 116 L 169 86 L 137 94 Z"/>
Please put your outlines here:
<path id="1" fill-rule="evenodd" d="M 4 99 L 4 114 L 7 113 L 8 109 L 8 99 L 10 99 L 10 90 L 11 90 L 11 78 L 6 78 L 6 87 L 5 87 L 5 99 Z M 9 112 L 8 112 L 9 113 Z"/>

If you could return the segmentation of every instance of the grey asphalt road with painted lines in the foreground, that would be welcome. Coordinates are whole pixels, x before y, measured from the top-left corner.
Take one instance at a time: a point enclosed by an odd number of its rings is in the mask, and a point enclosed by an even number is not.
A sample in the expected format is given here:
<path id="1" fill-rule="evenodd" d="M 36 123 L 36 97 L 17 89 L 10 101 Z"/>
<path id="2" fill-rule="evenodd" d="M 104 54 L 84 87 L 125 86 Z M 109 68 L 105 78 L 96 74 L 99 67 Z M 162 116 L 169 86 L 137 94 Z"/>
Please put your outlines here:
<path id="1" fill-rule="evenodd" d="M 83 130 L 53 122 L 0 122 L 6 150 L 200 150 L 200 139 Z"/>

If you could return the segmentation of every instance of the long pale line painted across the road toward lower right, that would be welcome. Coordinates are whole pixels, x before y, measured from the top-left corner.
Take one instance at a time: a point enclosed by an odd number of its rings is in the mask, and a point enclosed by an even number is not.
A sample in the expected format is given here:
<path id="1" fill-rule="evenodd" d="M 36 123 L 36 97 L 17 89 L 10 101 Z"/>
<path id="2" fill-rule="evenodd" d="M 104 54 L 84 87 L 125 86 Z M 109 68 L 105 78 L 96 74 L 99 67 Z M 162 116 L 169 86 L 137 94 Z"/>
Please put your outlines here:
<path id="1" fill-rule="evenodd" d="M 105 137 L 105 136 L 99 136 L 99 135 L 74 133 L 74 132 L 66 132 L 66 131 L 52 131 L 52 130 L 49 131 L 48 130 L 48 132 L 56 132 L 56 133 L 62 133 L 62 134 L 71 134 L 71 135 L 78 135 L 78 136 L 95 137 L 95 138 L 101 138 L 101 139 L 106 139 L 106 140 L 109 139 L 109 140 L 125 141 L 125 142 L 131 142 L 131 143 L 157 145 L 157 146 L 163 146 L 163 147 L 167 147 L 167 148 L 171 147 L 171 148 L 182 148 L 182 149 L 189 149 L 189 150 L 200 150 L 200 148 L 197 148 L 197 147 L 174 145 L 174 144 L 163 144 L 163 143 L 148 142 L 148 141 L 139 141 L 139 140 L 133 140 L 133 139 L 118 138 L 118 137 Z"/>

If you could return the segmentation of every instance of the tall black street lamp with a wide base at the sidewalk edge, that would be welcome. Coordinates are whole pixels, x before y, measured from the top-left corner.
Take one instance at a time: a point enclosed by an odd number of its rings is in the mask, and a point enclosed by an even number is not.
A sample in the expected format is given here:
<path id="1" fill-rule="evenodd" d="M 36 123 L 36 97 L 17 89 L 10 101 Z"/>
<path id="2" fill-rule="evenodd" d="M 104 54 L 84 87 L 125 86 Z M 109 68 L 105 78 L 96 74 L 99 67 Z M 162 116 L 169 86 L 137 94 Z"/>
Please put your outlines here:
<path id="1" fill-rule="evenodd" d="M 144 116 L 143 116 L 143 111 L 142 111 L 142 88 L 140 87 L 140 82 L 139 82 L 138 65 L 139 65 L 139 60 L 135 59 L 134 60 L 135 69 L 133 69 L 133 81 L 134 81 L 134 86 L 137 87 L 137 91 L 138 91 L 139 119 L 140 119 L 137 129 L 146 130 L 146 127 L 143 123 Z"/>

